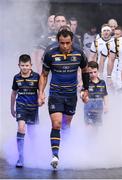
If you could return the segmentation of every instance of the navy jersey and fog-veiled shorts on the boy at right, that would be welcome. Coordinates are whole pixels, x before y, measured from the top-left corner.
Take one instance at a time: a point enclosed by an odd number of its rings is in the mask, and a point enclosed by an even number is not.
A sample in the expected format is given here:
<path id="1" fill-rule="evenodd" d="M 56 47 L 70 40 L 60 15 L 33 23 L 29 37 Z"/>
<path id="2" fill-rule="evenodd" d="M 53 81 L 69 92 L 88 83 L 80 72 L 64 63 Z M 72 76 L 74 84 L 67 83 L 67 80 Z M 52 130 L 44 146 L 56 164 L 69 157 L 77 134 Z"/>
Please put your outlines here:
<path id="1" fill-rule="evenodd" d="M 103 98 L 106 96 L 107 89 L 104 80 L 99 80 L 98 83 L 89 82 L 89 101 L 84 104 L 84 119 L 86 123 L 102 122 L 103 114 Z"/>

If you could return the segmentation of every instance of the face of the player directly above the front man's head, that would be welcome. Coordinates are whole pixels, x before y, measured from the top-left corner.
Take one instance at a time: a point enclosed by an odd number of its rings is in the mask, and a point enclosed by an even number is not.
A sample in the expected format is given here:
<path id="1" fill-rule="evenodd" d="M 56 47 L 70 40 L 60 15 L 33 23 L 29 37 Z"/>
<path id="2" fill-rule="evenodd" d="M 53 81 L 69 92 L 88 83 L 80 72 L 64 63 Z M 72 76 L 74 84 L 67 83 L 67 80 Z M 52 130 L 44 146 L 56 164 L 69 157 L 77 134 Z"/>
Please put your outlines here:
<path id="1" fill-rule="evenodd" d="M 66 26 L 67 22 L 64 16 L 57 16 L 55 18 L 55 29 L 58 31 L 61 26 Z"/>

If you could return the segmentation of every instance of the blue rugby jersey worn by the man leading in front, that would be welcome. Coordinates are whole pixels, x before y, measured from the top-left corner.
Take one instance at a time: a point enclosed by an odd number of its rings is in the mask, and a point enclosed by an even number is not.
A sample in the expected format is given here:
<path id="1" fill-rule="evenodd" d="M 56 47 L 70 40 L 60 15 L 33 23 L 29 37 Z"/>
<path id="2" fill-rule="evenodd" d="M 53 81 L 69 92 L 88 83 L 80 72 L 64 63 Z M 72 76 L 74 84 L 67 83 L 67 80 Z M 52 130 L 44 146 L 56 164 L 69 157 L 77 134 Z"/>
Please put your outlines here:
<path id="1" fill-rule="evenodd" d="M 87 59 L 82 51 L 73 48 L 66 54 L 62 54 L 59 47 L 46 52 L 43 61 L 43 69 L 52 72 L 50 82 L 50 95 L 72 95 L 77 92 L 77 70 L 87 66 Z"/>

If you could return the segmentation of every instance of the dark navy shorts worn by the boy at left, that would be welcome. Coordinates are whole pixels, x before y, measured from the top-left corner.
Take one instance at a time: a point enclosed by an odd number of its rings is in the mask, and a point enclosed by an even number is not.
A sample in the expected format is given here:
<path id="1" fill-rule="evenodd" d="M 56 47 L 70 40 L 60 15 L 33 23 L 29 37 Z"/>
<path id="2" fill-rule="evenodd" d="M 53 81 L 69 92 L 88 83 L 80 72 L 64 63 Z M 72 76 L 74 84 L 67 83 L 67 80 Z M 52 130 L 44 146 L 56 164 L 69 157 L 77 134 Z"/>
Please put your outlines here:
<path id="1" fill-rule="evenodd" d="M 27 109 L 21 104 L 16 105 L 16 120 L 24 120 L 26 124 L 37 124 L 39 122 L 38 107 Z"/>

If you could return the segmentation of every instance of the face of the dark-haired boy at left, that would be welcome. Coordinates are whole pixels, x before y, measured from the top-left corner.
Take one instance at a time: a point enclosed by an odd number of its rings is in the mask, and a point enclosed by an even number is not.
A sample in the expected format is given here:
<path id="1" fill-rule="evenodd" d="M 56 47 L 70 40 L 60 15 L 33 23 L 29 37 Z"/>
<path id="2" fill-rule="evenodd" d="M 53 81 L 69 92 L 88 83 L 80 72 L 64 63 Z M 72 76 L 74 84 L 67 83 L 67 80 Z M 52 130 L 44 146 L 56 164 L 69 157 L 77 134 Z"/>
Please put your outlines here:
<path id="1" fill-rule="evenodd" d="M 31 68 L 32 68 L 32 64 L 30 61 L 24 63 L 24 62 L 20 62 L 19 64 L 19 68 L 22 74 L 26 75 L 30 72 Z"/>

